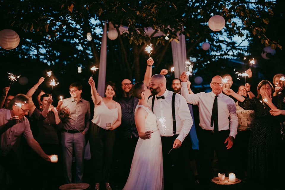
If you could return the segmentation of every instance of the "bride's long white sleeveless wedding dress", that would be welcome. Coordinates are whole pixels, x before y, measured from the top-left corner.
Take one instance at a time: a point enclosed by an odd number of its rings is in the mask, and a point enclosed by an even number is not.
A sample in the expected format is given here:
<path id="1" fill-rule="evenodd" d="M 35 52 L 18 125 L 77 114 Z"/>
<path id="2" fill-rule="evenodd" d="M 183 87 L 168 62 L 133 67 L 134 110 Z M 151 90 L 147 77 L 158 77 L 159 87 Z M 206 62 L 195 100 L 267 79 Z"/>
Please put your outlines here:
<path id="1" fill-rule="evenodd" d="M 148 113 L 145 119 L 145 131 L 153 131 L 151 138 L 139 138 L 134 151 L 131 171 L 123 190 L 162 190 L 163 165 L 161 138 L 156 124 L 156 116 L 148 107 L 143 107 Z"/>

